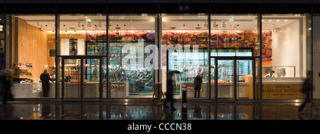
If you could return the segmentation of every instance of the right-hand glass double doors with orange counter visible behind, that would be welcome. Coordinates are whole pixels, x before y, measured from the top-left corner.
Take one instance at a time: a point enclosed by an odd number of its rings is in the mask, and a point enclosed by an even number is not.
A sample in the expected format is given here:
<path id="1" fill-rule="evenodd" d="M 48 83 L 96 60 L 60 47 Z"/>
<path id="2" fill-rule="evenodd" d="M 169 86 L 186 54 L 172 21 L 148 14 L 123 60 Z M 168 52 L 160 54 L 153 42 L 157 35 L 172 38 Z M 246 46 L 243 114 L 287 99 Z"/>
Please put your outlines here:
<path id="1" fill-rule="evenodd" d="M 253 60 L 211 58 L 211 62 L 217 63 L 211 67 L 211 91 L 218 99 L 253 99 Z"/>

